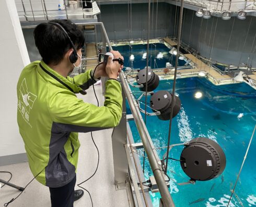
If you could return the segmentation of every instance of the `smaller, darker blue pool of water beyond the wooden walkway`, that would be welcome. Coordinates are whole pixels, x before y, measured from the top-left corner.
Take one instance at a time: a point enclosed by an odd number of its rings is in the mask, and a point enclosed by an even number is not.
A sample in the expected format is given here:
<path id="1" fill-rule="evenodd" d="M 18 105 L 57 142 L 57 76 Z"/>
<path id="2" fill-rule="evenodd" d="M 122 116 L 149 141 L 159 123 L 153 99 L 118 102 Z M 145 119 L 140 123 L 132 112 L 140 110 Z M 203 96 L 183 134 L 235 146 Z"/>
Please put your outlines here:
<path id="1" fill-rule="evenodd" d="M 113 50 L 118 50 L 124 57 L 124 67 L 132 67 L 135 69 L 144 69 L 146 67 L 146 56 L 143 59 L 143 54 L 147 53 L 147 44 L 144 45 L 124 45 L 113 47 Z M 175 55 L 168 53 L 170 49 L 165 44 L 156 43 L 149 44 L 149 61 L 148 66 L 152 69 L 166 68 L 166 62 L 170 62 L 172 66 L 175 65 Z M 159 53 L 162 54 L 160 58 Z M 130 56 L 134 55 L 134 60 L 130 60 Z M 178 66 L 184 66 L 185 60 L 180 60 Z"/>

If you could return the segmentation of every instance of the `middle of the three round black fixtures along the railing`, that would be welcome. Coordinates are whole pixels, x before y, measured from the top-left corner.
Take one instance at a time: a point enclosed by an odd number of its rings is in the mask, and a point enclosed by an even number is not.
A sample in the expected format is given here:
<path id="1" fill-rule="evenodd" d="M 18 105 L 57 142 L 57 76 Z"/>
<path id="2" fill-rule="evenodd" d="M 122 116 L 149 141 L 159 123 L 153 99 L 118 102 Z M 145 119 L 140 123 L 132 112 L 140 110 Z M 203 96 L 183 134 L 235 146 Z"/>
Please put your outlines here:
<path id="1" fill-rule="evenodd" d="M 157 117 L 160 120 L 170 120 L 171 115 L 171 101 L 172 94 L 167 90 L 159 90 L 154 93 L 150 98 L 150 107 L 155 109 L 156 111 L 160 111 L 161 114 Z M 181 108 L 180 98 L 178 96 L 174 96 L 174 107 L 172 112 L 172 118 L 176 117 Z"/>

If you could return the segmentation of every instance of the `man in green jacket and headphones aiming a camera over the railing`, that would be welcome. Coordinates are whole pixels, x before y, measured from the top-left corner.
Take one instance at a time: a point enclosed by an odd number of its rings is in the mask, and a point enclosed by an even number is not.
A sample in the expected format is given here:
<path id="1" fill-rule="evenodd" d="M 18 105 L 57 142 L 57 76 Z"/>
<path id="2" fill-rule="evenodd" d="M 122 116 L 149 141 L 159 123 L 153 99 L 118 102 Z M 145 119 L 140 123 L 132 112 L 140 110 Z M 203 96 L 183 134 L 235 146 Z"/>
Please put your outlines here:
<path id="1" fill-rule="evenodd" d="M 17 84 L 17 119 L 34 177 L 50 188 L 52 207 L 73 206 L 83 196 L 74 191 L 78 160 L 78 132 L 90 132 L 119 124 L 122 114 L 121 85 L 117 76 L 120 61 L 109 57 L 94 70 L 73 78 L 79 67 L 85 39 L 82 31 L 67 20 L 39 24 L 34 41 L 42 57 L 22 70 Z M 115 59 L 122 58 L 111 51 Z M 120 60 L 120 59 L 119 59 Z M 83 93 L 101 76 L 108 76 L 103 107 L 85 103 Z"/>

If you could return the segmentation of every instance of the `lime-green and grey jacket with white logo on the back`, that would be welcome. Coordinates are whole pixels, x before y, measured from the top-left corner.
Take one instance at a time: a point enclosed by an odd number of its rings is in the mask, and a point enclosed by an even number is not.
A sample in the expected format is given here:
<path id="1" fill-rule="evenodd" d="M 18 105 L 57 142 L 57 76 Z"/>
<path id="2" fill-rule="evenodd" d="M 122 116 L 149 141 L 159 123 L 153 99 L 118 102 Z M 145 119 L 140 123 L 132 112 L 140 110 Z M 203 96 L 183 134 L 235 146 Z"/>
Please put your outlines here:
<path id="1" fill-rule="evenodd" d="M 75 176 L 78 132 L 114 127 L 122 115 L 121 85 L 106 82 L 104 106 L 78 99 L 75 93 L 95 83 L 90 70 L 66 79 L 43 61 L 22 70 L 17 84 L 19 132 L 33 176 L 49 187 L 61 187 Z M 40 173 L 41 172 L 41 173 Z"/>

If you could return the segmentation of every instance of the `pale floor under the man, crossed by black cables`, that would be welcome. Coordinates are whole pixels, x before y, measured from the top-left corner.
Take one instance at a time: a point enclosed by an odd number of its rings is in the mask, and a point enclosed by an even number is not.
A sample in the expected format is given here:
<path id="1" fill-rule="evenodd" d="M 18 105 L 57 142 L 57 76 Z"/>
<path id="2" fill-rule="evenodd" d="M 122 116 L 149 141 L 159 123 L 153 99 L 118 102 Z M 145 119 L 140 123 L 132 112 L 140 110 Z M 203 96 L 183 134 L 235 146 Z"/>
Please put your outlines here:
<path id="1" fill-rule="evenodd" d="M 103 105 L 103 96 L 101 95 L 101 86 L 95 86 L 100 105 Z M 97 104 L 92 87 L 87 90 L 87 95 L 78 95 L 79 98 L 83 98 L 84 101 Z M 94 206 L 129 206 L 126 196 L 126 190 L 115 190 L 114 186 L 114 170 L 113 170 L 113 157 L 112 157 L 112 143 L 111 143 L 112 129 L 93 132 L 94 140 L 99 148 L 100 162 L 97 173 L 94 177 L 88 180 L 82 186 L 89 190 L 91 193 Z M 79 149 L 79 161 L 77 169 L 77 182 L 76 184 L 83 182 L 92 173 L 94 173 L 98 154 L 97 150 L 92 142 L 90 133 L 80 133 L 79 140 L 81 147 Z M 11 183 L 25 187 L 29 181 L 33 178 L 30 172 L 28 163 L 13 164 L 7 166 L 1 166 L 0 171 L 10 171 L 13 173 Z M 0 173 L 0 178 L 7 180 L 8 174 Z M 76 186 L 76 189 L 79 189 Z M 15 198 L 19 191 L 5 186 L 0 190 L 0 206 L 8 202 L 10 199 Z M 51 206 L 50 193 L 48 187 L 45 187 L 33 180 L 33 182 L 27 187 L 27 189 L 21 194 L 21 196 L 10 203 L 10 207 L 44 207 Z M 91 201 L 87 192 L 84 196 L 74 203 L 75 207 L 91 206 Z"/>

